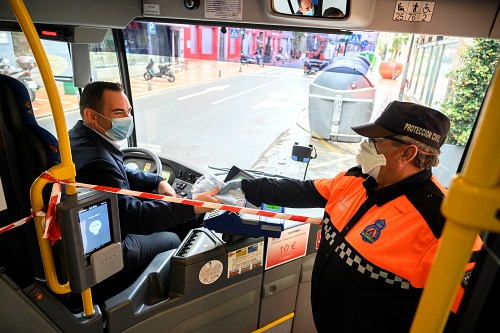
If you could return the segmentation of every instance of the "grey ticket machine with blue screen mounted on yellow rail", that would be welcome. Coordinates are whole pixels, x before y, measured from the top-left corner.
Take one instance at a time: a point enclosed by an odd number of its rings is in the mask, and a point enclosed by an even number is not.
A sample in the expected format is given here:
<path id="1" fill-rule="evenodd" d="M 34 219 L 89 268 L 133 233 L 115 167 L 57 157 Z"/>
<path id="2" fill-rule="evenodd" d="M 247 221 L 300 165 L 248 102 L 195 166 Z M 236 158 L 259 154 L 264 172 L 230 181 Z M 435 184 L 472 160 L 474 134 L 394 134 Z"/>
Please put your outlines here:
<path id="1" fill-rule="evenodd" d="M 116 194 L 91 191 L 57 205 L 73 292 L 82 292 L 123 268 Z"/>

